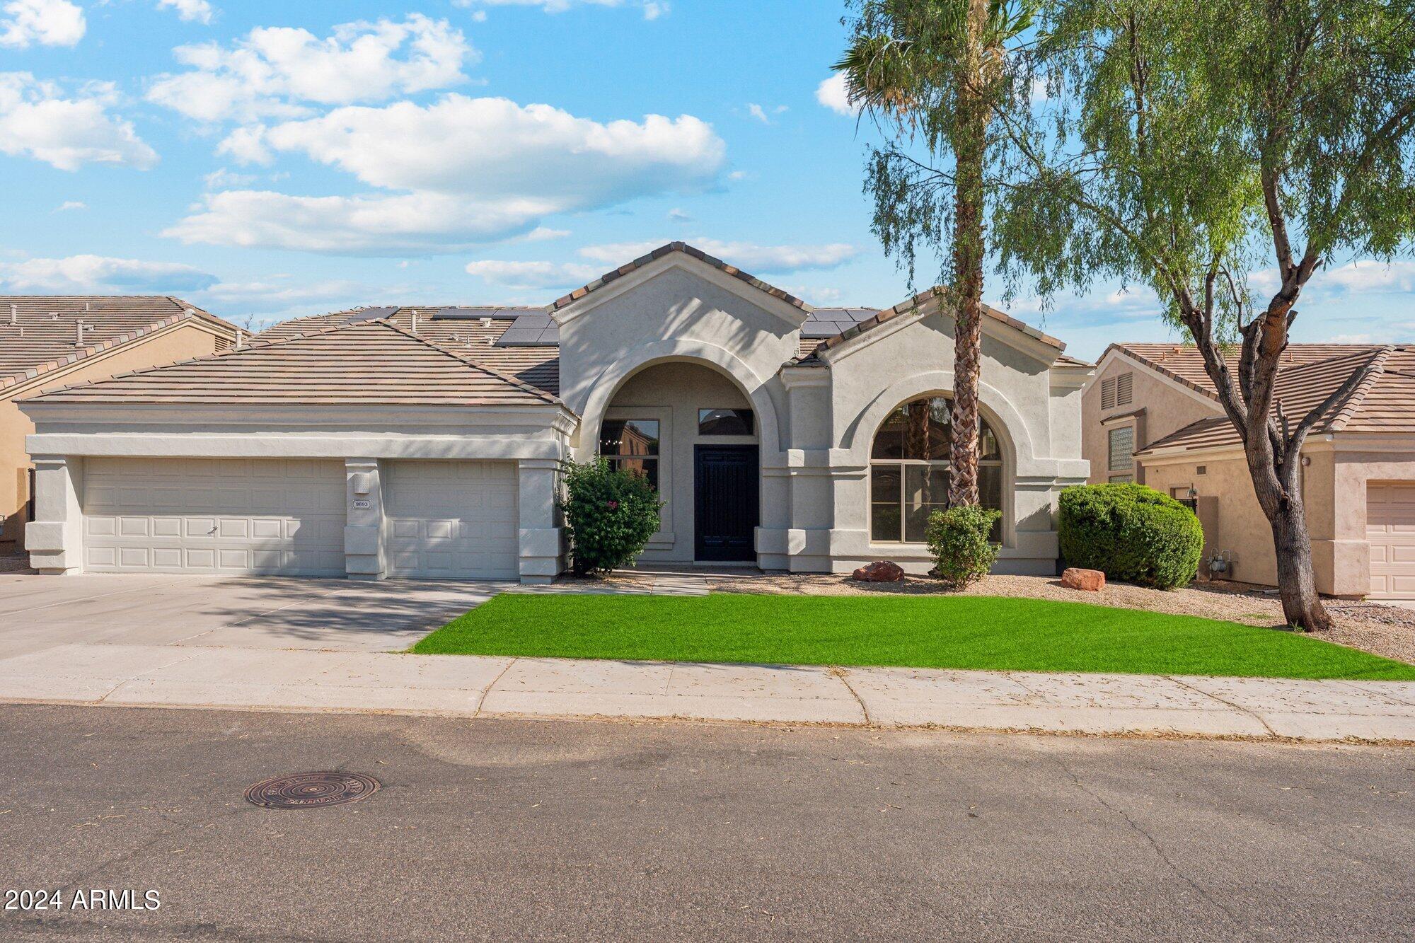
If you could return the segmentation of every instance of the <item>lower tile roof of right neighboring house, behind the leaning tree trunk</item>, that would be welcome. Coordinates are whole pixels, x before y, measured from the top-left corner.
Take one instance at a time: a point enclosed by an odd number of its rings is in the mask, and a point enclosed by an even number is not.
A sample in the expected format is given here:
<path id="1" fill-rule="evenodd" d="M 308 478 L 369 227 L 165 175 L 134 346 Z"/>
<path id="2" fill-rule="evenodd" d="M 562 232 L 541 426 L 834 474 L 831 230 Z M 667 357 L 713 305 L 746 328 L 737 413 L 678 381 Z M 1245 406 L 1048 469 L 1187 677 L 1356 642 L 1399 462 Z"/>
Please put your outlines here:
<path id="1" fill-rule="evenodd" d="M 1411 347 L 1363 345 L 1361 350 L 1347 348 L 1347 353 L 1334 357 L 1281 368 L 1274 389 L 1274 411 L 1281 401 L 1288 421 L 1296 425 L 1341 389 L 1353 374 L 1360 374 L 1360 381 L 1327 409 L 1315 432 L 1415 432 L 1415 348 Z M 1143 457 L 1160 449 L 1237 447 L 1241 443 L 1227 416 L 1213 416 L 1157 439 L 1136 455 Z"/>

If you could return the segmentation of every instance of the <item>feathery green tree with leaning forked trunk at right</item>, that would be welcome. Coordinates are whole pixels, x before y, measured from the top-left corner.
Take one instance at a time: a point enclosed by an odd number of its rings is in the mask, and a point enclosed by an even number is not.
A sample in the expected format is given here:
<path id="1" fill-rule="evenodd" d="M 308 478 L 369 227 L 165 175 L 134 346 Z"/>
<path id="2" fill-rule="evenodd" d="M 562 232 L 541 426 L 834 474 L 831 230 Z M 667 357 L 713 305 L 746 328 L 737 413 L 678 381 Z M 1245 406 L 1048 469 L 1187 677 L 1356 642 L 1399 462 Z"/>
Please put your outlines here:
<path id="1" fill-rule="evenodd" d="M 1415 4 L 1077 0 L 1049 27 L 1050 120 L 1009 123 L 1003 265 L 1043 292 L 1121 279 L 1159 295 L 1242 439 L 1286 619 L 1326 629 L 1302 446 L 1357 379 L 1305 415 L 1274 389 L 1322 266 L 1390 259 L 1415 234 Z"/>

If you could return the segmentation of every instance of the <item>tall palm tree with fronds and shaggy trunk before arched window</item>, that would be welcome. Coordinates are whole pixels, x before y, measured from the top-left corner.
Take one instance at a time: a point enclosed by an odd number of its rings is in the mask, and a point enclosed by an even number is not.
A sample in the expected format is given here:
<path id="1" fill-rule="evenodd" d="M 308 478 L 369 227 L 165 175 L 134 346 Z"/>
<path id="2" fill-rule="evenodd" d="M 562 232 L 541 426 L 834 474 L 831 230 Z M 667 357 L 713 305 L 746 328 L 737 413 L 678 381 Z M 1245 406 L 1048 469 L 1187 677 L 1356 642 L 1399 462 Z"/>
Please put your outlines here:
<path id="1" fill-rule="evenodd" d="M 853 103 L 886 135 L 870 146 L 873 231 L 914 280 L 920 248 L 937 251 L 954 310 L 948 503 L 978 503 L 978 372 L 992 120 L 1024 101 L 1013 47 L 1030 0 L 855 0 L 836 64 Z M 1023 89 L 1019 93 L 1019 88 Z"/>

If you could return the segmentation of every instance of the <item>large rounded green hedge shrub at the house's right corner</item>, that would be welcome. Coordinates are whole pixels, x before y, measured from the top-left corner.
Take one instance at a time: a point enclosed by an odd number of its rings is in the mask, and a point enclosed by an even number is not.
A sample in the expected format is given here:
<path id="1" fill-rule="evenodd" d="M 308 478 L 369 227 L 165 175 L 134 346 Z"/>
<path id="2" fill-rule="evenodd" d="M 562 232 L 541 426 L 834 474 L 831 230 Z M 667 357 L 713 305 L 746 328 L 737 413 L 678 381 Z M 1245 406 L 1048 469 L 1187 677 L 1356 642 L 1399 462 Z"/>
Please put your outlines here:
<path id="1" fill-rule="evenodd" d="M 1194 579 L 1204 549 L 1194 513 L 1143 484 L 1067 488 L 1058 531 L 1067 566 L 1159 589 Z"/>

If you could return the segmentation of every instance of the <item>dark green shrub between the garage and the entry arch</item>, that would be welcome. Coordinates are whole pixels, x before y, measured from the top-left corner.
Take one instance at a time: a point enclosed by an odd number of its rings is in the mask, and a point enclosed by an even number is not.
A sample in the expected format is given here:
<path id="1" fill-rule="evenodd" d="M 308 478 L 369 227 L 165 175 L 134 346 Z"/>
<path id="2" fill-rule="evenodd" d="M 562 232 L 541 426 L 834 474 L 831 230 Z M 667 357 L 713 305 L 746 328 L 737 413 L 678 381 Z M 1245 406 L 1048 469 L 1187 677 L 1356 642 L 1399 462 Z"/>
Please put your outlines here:
<path id="1" fill-rule="evenodd" d="M 659 527 L 662 503 L 654 486 L 642 474 L 616 469 L 604 459 L 566 462 L 563 476 L 559 508 L 576 576 L 633 564 Z"/>

